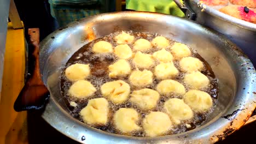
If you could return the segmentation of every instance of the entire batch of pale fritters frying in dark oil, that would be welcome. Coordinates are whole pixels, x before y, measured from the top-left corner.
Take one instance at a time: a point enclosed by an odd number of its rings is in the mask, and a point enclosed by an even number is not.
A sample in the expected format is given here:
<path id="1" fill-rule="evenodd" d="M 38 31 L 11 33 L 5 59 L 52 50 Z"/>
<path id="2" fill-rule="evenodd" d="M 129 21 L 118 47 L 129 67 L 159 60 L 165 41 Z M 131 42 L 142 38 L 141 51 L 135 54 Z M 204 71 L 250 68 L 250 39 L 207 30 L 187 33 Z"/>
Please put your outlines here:
<path id="1" fill-rule="evenodd" d="M 187 45 L 174 43 L 165 37 L 155 37 L 152 41 L 136 40 L 133 35 L 122 32 L 115 38 L 118 45 L 113 47 L 107 41 L 98 41 L 92 46 L 94 53 L 114 53 L 118 61 L 109 65 L 108 76 L 113 81 L 104 83 L 101 88 L 102 98 L 94 98 L 98 90 L 86 77 L 90 75 L 90 64 L 75 63 L 65 70 L 65 76 L 72 85 L 69 88 L 70 97 L 89 99 L 80 111 L 84 123 L 92 126 L 106 125 L 110 121 L 109 101 L 121 104 L 129 101 L 142 111 L 147 111 L 144 118 L 132 108 L 120 108 L 113 113 L 111 121 L 122 134 L 132 131 L 144 131 L 146 136 L 161 136 L 170 131 L 173 125 L 189 121 L 196 112 L 207 112 L 213 106 L 210 94 L 201 91 L 210 85 L 210 80 L 200 71 L 205 65 L 200 59 L 193 57 Z M 129 45 L 132 45 L 130 47 Z M 152 54 L 150 49 L 157 49 Z M 136 66 L 131 69 L 128 59 Z M 173 80 L 179 74 L 173 61 L 178 61 L 182 73 L 185 73 L 183 83 Z M 155 62 L 158 62 L 155 65 Z M 129 82 L 122 79 L 127 77 Z M 148 88 L 156 77 L 160 82 L 154 88 Z M 131 87 L 137 87 L 131 91 Z M 161 111 L 152 111 L 162 95 L 179 95 L 179 98 L 168 98 Z M 138 124 L 141 121 L 141 125 Z"/>

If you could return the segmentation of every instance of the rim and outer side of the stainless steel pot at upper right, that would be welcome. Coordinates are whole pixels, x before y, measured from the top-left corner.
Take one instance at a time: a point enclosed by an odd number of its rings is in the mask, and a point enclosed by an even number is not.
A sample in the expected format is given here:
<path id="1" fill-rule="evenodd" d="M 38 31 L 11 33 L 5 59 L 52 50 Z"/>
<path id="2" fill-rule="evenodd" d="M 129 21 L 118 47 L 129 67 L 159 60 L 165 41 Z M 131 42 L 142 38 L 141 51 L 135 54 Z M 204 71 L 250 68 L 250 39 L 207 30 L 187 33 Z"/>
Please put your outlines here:
<path id="1" fill-rule="evenodd" d="M 184 4 L 179 0 L 174 2 L 188 19 L 226 35 L 256 65 L 256 24 L 226 15 L 206 4 L 200 4 L 199 0 L 183 0 Z"/>

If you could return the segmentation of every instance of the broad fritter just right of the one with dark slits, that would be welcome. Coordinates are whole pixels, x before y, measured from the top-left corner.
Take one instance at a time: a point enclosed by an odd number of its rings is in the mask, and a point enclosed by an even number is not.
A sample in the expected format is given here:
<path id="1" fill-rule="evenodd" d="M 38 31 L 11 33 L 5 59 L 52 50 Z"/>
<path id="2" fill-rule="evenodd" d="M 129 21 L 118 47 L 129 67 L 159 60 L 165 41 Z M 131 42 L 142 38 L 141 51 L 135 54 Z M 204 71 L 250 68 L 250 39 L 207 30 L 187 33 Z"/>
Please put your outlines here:
<path id="1" fill-rule="evenodd" d="M 138 91 L 133 91 L 130 101 L 142 110 L 151 110 L 158 104 L 159 97 L 160 95 L 158 92 L 149 88 L 144 88 Z"/>

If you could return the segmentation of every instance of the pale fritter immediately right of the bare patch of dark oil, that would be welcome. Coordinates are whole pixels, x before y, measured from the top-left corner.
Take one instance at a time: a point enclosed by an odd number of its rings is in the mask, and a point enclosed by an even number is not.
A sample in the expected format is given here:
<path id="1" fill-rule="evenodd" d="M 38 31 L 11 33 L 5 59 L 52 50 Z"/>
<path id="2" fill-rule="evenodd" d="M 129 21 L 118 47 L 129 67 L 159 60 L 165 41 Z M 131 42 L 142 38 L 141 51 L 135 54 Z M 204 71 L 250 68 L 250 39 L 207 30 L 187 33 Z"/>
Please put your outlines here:
<path id="1" fill-rule="evenodd" d="M 117 78 L 117 77 L 125 77 L 131 73 L 130 64 L 124 59 L 120 59 L 112 65 L 109 65 L 109 77 Z"/>

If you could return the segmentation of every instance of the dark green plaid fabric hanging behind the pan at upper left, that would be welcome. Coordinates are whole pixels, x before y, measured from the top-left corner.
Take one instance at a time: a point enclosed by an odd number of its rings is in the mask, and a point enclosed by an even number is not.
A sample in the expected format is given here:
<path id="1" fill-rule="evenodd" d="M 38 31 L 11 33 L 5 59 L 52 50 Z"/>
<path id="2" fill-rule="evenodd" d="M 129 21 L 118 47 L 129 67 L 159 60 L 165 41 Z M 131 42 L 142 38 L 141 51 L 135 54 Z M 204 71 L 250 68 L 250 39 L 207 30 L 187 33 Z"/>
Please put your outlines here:
<path id="1" fill-rule="evenodd" d="M 74 0 L 73 0 L 74 1 Z M 100 14 L 98 3 L 84 5 L 83 4 L 63 4 L 63 1 L 49 0 L 51 15 L 57 20 L 59 26 L 65 26 L 67 23 L 88 17 L 91 15 Z M 84 1 L 85 2 L 85 1 Z M 86 1 L 89 2 L 89 1 Z M 94 1 L 96 2 L 96 1 Z M 98 1 L 97 1 L 98 2 Z M 57 3 L 57 4 L 56 4 Z"/>

